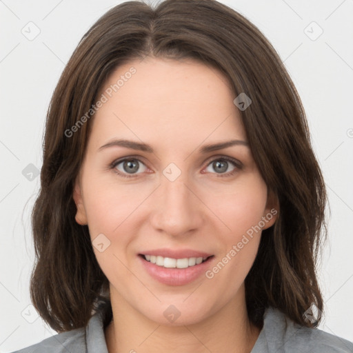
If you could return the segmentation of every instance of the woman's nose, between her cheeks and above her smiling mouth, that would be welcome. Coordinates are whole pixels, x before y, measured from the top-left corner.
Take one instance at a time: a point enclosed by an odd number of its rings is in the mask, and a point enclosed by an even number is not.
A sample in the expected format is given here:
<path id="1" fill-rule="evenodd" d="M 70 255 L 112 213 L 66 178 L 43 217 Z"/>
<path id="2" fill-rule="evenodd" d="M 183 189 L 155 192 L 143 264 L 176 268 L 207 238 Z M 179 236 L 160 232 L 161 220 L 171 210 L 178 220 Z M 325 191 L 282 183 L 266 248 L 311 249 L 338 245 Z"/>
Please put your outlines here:
<path id="1" fill-rule="evenodd" d="M 196 188 L 185 177 L 174 181 L 161 175 L 161 185 L 154 192 L 150 222 L 154 230 L 170 236 L 190 235 L 205 220 L 203 205 Z"/>

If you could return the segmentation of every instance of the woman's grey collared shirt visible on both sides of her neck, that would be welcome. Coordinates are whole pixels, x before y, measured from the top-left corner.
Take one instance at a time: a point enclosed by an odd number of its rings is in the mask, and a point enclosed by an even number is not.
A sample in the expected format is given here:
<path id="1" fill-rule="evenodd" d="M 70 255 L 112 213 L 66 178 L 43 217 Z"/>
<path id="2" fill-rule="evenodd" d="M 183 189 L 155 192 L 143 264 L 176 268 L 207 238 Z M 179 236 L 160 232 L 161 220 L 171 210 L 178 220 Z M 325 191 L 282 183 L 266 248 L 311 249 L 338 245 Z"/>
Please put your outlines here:
<path id="1" fill-rule="evenodd" d="M 138 352 L 138 350 L 136 350 Z M 108 353 L 100 313 L 88 325 L 56 334 L 13 353 Z M 297 325 L 285 314 L 268 307 L 263 328 L 251 353 L 353 353 L 353 343 L 322 330 Z"/>

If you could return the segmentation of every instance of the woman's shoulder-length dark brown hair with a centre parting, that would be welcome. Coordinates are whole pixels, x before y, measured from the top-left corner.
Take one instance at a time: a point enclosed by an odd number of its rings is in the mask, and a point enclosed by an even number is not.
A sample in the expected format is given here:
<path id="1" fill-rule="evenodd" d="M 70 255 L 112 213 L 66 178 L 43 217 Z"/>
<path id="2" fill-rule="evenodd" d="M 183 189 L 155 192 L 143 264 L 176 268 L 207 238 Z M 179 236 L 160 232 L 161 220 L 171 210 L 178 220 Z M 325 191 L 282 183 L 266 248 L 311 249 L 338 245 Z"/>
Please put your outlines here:
<path id="1" fill-rule="evenodd" d="M 67 132 L 92 108 L 117 66 L 147 55 L 212 65 L 228 77 L 234 98 L 245 92 L 252 99 L 241 119 L 259 171 L 279 200 L 279 214 L 263 231 L 245 279 L 248 315 L 261 327 L 265 308 L 273 306 L 296 323 L 316 326 L 320 320 L 311 323 L 303 314 L 312 303 L 323 311 L 316 260 L 327 233 L 326 192 L 305 112 L 268 40 L 248 19 L 214 0 L 167 0 L 157 8 L 121 3 L 94 23 L 74 50 L 46 119 L 41 190 L 32 212 L 34 307 L 57 332 L 87 325 L 97 310 L 105 314 L 104 326 L 112 319 L 108 279 L 87 225 L 75 221 L 72 198 L 93 117 L 70 136 Z"/>

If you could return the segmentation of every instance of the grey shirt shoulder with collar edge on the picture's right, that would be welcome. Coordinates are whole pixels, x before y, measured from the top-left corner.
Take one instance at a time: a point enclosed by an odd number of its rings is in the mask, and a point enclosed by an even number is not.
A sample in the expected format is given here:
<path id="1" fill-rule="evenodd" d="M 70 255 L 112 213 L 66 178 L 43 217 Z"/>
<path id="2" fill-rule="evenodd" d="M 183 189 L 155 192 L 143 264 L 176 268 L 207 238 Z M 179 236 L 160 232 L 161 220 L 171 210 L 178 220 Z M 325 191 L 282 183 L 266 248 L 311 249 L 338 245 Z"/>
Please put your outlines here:
<path id="1" fill-rule="evenodd" d="M 323 330 L 298 325 L 280 310 L 268 307 L 252 353 L 276 351 L 353 353 L 353 343 Z"/>

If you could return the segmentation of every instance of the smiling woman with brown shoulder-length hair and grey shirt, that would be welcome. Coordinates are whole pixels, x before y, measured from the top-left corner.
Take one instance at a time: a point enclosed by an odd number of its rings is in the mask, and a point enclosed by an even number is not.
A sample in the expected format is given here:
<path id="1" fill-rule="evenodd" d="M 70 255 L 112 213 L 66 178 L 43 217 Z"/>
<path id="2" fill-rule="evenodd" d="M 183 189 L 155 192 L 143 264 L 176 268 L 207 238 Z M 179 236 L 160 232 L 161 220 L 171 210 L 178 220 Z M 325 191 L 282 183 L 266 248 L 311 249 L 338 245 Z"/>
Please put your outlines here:
<path id="1" fill-rule="evenodd" d="M 130 1 L 52 97 L 19 352 L 353 352 L 315 327 L 326 193 L 281 60 L 212 0 Z"/>

